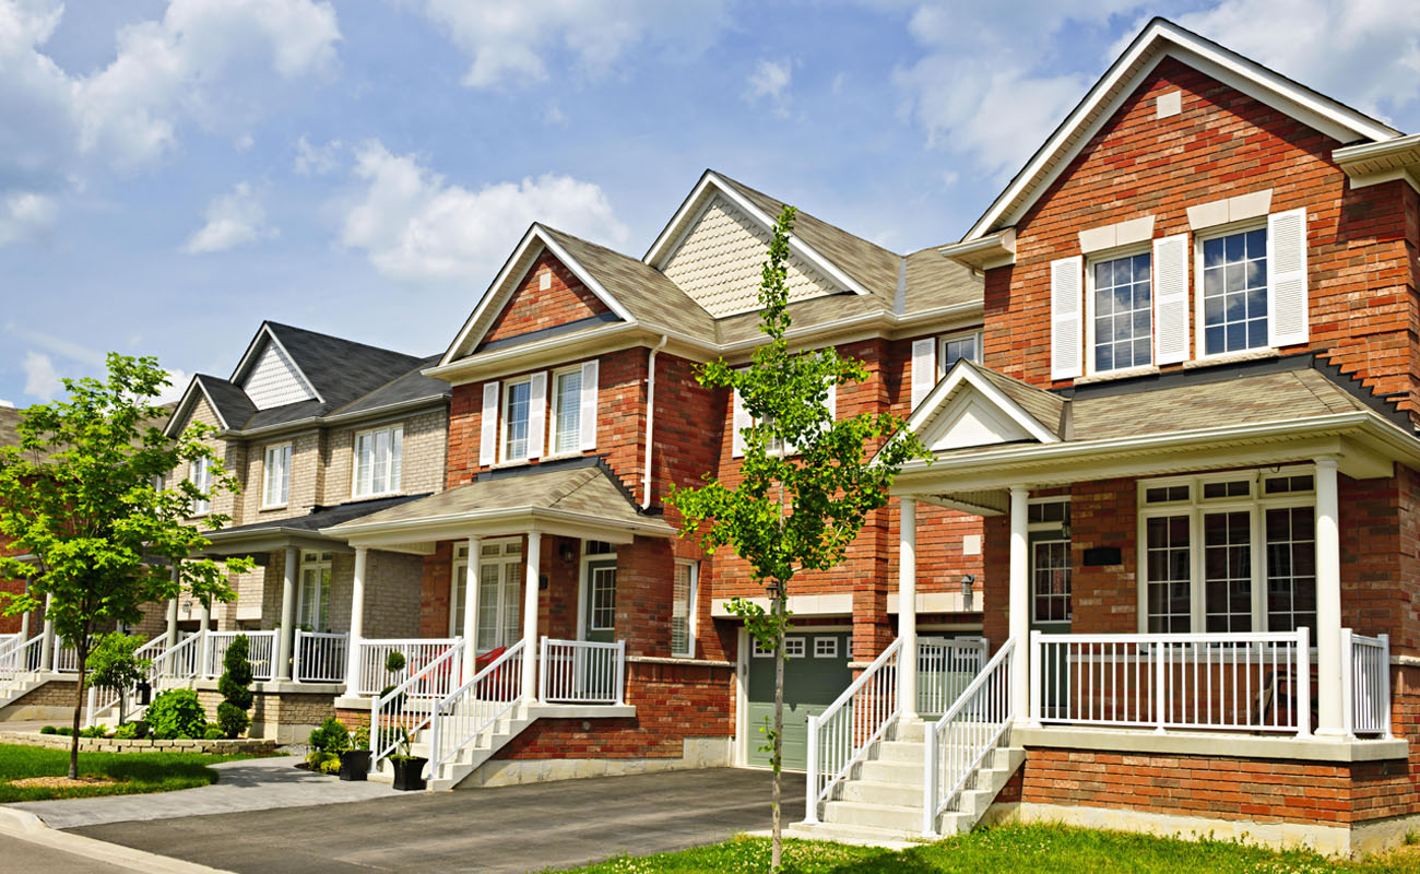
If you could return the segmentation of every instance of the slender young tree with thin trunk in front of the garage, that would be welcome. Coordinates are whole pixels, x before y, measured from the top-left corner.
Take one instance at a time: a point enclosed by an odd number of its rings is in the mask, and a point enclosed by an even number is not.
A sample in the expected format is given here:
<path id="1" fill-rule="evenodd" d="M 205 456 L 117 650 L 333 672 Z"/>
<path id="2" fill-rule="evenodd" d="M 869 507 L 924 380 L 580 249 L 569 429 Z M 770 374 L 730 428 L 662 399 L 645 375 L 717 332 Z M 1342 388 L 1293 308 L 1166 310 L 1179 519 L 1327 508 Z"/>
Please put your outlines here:
<path id="1" fill-rule="evenodd" d="M 788 586 L 805 570 L 828 570 L 843 560 L 868 513 L 888 503 L 888 487 L 902 465 L 924 458 L 914 435 L 890 414 L 835 419 L 829 387 L 868 378 L 868 369 L 834 348 L 790 351 L 790 232 L 795 210 L 785 206 L 774 226 L 770 257 L 760 283 L 760 330 L 770 341 L 748 368 L 713 361 L 696 372 L 707 387 L 740 392 L 753 425 L 741 431 L 740 483 L 728 487 L 704 476 L 694 489 L 673 489 L 670 503 L 683 517 L 682 536 L 697 534 L 706 551 L 728 546 L 750 563 L 754 580 L 768 588 L 770 610 L 736 598 L 727 604 L 760 645 L 774 651 L 774 725 L 768 735 L 774 769 L 772 868 L 780 870 L 781 763 L 784 730 L 784 634 L 790 630 Z M 882 446 L 876 458 L 870 452 Z"/>

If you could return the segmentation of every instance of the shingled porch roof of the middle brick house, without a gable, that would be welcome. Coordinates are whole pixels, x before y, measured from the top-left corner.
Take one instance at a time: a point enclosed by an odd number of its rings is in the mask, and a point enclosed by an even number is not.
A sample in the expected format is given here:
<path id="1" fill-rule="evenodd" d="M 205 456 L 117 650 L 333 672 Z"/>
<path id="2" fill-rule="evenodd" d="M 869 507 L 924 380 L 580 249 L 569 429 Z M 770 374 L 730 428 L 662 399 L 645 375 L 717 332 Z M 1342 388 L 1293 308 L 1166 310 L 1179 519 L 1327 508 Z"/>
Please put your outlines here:
<path id="1" fill-rule="evenodd" d="M 642 513 L 598 458 L 493 470 L 462 486 L 322 529 L 351 546 L 427 553 L 439 540 L 548 534 L 630 543 L 676 533 Z"/>

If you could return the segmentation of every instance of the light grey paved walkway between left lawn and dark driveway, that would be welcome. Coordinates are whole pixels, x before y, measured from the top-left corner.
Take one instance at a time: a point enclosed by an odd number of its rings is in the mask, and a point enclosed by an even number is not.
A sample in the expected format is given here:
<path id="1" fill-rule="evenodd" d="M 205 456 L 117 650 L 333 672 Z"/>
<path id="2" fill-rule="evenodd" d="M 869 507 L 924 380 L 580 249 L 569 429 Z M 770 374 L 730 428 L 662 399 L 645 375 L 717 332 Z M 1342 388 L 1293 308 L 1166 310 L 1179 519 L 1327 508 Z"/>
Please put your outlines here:
<path id="1" fill-rule="evenodd" d="M 77 829 L 131 820 L 166 820 L 212 813 L 341 804 L 364 799 L 408 797 L 388 783 L 342 782 L 329 775 L 298 770 L 297 756 L 244 759 L 213 765 L 222 776 L 212 786 L 153 794 L 17 802 L 6 804 L 38 816 L 51 829 Z M 395 799 L 390 799 L 395 800 Z"/>

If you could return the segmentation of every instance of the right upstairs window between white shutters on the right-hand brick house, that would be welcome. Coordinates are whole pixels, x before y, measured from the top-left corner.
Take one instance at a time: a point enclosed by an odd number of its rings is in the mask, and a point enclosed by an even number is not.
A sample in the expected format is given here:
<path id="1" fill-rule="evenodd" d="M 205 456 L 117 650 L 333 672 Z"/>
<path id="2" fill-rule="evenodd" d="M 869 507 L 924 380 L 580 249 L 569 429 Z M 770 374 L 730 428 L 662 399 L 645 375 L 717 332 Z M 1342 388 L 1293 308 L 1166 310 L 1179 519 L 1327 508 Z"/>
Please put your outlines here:
<path id="1" fill-rule="evenodd" d="M 1201 240 L 1203 354 L 1268 345 L 1267 229 Z"/>

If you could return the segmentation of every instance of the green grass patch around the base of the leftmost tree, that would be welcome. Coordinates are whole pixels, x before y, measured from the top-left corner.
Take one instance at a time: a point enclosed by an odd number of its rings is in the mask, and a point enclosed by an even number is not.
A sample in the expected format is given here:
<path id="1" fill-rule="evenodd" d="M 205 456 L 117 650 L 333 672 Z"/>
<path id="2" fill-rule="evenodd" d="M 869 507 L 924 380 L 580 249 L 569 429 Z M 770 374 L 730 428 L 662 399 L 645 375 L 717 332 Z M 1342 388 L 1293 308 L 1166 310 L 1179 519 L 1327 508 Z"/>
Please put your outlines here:
<path id="1" fill-rule="evenodd" d="M 251 757 L 203 753 L 80 753 L 80 776 L 111 777 L 118 782 L 72 787 L 26 787 L 13 786 L 10 780 L 62 777 L 70 773 L 70 750 L 0 743 L 0 803 L 192 789 L 217 782 L 217 772 L 207 767 L 209 765 Z"/>

